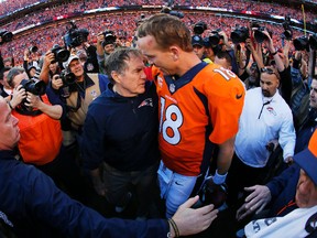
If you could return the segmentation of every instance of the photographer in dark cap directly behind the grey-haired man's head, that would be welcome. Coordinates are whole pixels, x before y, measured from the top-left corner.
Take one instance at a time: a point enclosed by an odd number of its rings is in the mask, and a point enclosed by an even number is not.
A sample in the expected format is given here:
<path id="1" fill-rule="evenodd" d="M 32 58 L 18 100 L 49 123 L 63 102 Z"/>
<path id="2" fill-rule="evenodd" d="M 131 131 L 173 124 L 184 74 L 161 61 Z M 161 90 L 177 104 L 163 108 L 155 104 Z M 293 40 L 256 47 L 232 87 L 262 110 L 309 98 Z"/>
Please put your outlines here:
<path id="1" fill-rule="evenodd" d="M 106 74 L 106 58 L 114 51 L 114 48 L 116 36 L 111 31 L 100 32 L 97 35 L 97 60 L 99 72 L 101 74 Z"/>

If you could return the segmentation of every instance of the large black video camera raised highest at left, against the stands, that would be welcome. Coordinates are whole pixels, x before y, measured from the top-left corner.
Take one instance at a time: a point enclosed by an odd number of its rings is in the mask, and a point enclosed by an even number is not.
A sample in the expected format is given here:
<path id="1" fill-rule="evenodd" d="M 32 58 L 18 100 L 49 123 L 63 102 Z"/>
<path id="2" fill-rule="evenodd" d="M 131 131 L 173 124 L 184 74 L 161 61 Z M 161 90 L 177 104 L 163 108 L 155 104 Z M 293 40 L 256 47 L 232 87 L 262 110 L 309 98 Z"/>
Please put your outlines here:
<path id="1" fill-rule="evenodd" d="M 69 23 L 72 26 L 63 37 L 65 45 L 67 47 L 77 47 L 84 42 L 87 42 L 89 31 L 87 29 L 78 29 L 73 21 L 70 21 Z"/>

